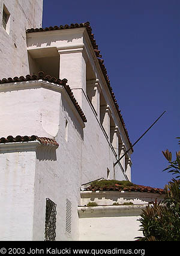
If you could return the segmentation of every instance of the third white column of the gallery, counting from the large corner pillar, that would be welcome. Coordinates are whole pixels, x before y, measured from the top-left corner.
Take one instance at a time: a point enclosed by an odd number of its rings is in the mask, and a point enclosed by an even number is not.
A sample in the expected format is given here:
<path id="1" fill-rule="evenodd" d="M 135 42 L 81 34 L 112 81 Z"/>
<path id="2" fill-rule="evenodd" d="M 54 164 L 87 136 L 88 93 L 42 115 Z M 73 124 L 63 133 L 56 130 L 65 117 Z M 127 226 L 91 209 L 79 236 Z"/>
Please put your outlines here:
<path id="1" fill-rule="evenodd" d="M 110 116 L 111 111 L 109 105 L 103 105 L 100 107 L 100 121 L 106 131 L 107 137 L 110 141 Z"/>

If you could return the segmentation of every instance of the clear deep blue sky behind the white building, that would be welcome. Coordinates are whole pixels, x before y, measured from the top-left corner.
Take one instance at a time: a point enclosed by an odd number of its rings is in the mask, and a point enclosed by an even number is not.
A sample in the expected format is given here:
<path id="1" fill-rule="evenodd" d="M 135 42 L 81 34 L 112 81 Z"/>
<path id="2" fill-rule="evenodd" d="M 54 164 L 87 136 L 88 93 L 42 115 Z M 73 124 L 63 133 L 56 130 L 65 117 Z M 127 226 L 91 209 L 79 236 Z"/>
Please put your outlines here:
<path id="1" fill-rule="evenodd" d="M 179 0 L 44 0 L 43 27 L 89 21 L 134 143 L 132 181 L 163 188 L 161 153 L 180 150 Z"/>

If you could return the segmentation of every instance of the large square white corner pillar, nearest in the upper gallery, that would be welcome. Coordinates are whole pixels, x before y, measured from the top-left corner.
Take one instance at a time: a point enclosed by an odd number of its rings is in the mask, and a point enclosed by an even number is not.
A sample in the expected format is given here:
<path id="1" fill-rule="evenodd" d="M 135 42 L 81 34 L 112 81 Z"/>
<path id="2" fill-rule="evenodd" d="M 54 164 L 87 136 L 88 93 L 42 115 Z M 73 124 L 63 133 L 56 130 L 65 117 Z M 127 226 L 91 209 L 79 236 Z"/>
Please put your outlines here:
<path id="1" fill-rule="evenodd" d="M 58 49 L 60 55 L 59 78 L 66 78 L 74 96 L 82 107 L 82 90 L 86 93 L 86 53 L 85 49 Z M 79 89 L 77 89 L 79 88 Z M 76 90 L 75 90 L 76 89 Z"/>

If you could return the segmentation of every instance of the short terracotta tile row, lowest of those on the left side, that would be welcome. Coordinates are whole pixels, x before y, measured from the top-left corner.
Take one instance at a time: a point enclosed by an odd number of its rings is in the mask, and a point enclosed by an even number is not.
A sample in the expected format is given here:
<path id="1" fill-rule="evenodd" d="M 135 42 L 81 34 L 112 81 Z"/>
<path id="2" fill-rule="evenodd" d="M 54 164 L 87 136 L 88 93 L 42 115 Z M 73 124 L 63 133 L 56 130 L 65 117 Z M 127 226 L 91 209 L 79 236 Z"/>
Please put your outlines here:
<path id="1" fill-rule="evenodd" d="M 44 145 L 52 145 L 52 146 L 56 146 L 58 148 L 59 144 L 58 142 L 56 142 L 56 140 L 53 139 L 49 139 L 46 137 L 38 137 L 35 135 L 32 136 L 8 136 L 7 138 L 5 137 L 1 137 L 0 138 L 0 144 L 2 143 L 12 143 L 12 142 L 33 142 L 35 140 L 38 140 L 40 143 L 44 144 Z"/>

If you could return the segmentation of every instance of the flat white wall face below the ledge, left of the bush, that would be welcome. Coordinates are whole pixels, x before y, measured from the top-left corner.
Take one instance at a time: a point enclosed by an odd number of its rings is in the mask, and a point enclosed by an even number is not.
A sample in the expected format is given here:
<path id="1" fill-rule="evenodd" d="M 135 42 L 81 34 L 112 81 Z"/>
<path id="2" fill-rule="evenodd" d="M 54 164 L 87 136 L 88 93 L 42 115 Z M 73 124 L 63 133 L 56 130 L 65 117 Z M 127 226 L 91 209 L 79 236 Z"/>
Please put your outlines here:
<path id="1" fill-rule="evenodd" d="M 134 241 L 143 236 L 139 216 L 79 219 L 80 241 Z"/>

